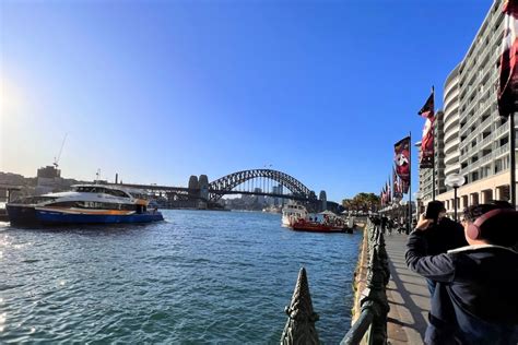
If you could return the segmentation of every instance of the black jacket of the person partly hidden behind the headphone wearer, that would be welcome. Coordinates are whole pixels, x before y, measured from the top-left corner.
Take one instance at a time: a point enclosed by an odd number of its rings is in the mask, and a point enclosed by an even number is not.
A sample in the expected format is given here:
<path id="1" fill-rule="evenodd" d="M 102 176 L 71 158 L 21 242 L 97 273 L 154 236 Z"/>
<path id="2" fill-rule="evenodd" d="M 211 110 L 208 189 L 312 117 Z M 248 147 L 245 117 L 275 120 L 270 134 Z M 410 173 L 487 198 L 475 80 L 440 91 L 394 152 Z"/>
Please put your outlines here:
<path id="1" fill-rule="evenodd" d="M 443 217 L 438 224 L 424 231 L 427 242 L 427 255 L 437 255 L 448 250 L 468 246 L 464 228 L 450 218 Z"/>

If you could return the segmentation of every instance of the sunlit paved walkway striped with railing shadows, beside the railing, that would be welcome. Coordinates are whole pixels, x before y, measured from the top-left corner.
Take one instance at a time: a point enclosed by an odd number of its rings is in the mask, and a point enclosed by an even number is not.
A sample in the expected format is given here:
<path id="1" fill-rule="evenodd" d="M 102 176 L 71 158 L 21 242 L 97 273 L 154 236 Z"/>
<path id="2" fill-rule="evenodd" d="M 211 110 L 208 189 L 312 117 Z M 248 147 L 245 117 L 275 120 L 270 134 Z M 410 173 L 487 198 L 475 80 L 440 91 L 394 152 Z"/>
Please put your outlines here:
<path id="1" fill-rule="evenodd" d="M 387 323 L 389 344 L 423 344 L 429 310 L 426 282 L 407 267 L 407 235 L 386 235 L 385 241 L 390 267 L 390 282 L 387 285 L 390 305 Z"/>

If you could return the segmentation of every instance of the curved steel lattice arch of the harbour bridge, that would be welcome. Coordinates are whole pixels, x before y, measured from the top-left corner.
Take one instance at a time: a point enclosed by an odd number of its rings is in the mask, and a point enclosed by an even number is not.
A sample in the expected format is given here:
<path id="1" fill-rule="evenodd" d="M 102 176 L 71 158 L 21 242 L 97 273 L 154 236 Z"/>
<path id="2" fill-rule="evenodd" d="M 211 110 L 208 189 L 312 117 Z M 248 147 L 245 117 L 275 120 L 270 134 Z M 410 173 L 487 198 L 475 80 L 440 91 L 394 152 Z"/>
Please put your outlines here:
<path id="1" fill-rule="evenodd" d="M 306 199 L 309 199 L 311 193 L 309 188 L 304 186 L 303 182 L 285 172 L 272 169 L 251 169 L 233 172 L 210 182 L 209 191 L 217 191 L 217 193 L 211 193 L 211 200 L 217 201 L 224 195 L 225 191 L 231 191 L 248 180 L 261 177 L 274 180 L 287 188 L 292 193 Z"/>

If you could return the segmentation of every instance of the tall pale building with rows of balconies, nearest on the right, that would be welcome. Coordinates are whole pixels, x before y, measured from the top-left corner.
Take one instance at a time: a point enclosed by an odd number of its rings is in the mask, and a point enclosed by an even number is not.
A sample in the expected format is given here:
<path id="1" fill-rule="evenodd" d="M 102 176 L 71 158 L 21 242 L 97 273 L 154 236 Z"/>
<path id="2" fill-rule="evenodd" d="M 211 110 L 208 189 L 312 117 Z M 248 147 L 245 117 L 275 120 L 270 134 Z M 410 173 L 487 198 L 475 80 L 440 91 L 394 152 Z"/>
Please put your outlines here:
<path id="1" fill-rule="evenodd" d="M 466 178 L 458 189 L 460 210 L 510 199 L 509 124 L 498 116 L 496 98 L 504 34 L 502 5 L 502 0 L 493 2 L 464 59 L 445 83 L 445 145 L 437 148 L 439 156 L 444 154 L 444 177 L 458 172 Z M 454 191 L 448 189 L 436 199 L 452 212 Z"/>

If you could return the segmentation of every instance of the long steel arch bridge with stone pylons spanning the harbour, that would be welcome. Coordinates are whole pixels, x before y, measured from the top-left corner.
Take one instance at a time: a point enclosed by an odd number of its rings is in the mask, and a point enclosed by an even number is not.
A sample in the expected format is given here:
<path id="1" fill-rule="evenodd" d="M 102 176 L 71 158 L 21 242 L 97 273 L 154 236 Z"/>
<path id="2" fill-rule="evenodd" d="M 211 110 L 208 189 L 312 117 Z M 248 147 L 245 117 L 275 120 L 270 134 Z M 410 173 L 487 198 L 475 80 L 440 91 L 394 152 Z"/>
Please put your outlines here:
<path id="1" fill-rule="evenodd" d="M 119 185 L 120 186 L 120 185 Z M 273 169 L 250 169 L 223 176 L 209 182 L 207 175 L 191 176 L 188 187 L 127 185 L 155 195 L 163 207 L 221 209 L 219 201 L 227 194 L 263 195 L 295 200 L 315 211 L 333 210 L 334 202 L 327 201 L 326 191 L 317 198 L 315 191 L 296 178 Z"/>

